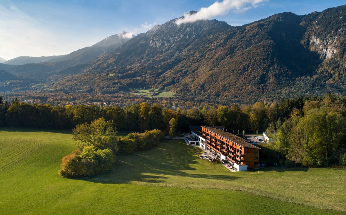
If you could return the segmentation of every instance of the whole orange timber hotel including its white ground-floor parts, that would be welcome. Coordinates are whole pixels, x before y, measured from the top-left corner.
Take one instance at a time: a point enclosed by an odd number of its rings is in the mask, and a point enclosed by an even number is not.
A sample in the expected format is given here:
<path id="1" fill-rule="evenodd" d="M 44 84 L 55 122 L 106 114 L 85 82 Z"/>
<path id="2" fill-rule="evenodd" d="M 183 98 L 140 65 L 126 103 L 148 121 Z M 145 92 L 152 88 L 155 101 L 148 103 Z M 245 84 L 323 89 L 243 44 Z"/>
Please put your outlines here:
<path id="1" fill-rule="evenodd" d="M 191 132 L 192 137 L 198 140 L 196 145 L 215 153 L 221 161 L 232 164 L 236 171 L 258 168 L 260 148 L 223 129 L 201 127 L 201 132 Z"/>

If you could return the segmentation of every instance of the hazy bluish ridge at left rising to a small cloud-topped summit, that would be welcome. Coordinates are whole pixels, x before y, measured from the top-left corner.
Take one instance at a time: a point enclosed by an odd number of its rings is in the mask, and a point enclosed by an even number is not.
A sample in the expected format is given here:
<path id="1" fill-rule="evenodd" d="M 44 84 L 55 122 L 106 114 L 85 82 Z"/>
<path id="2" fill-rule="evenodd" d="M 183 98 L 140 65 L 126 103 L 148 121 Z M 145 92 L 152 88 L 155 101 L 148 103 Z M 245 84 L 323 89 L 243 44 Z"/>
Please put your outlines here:
<path id="1" fill-rule="evenodd" d="M 36 80 L 38 83 L 46 82 L 50 79 L 58 80 L 67 75 L 79 73 L 93 60 L 103 54 L 110 53 L 133 37 L 134 36 L 129 32 L 122 32 L 107 37 L 90 47 L 81 48 L 80 50 L 67 55 L 51 56 L 48 57 L 49 59 L 43 59 L 40 57 L 39 59 L 46 61 L 40 63 L 27 63 L 14 67 L 11 66 L 10 69 L 5 70 L 15 75 Z M 32 61 L 35 58 L 29 57 L 28 59 Z M 7 61 L 6 63 L 11 62 L 12 60 Z"/>

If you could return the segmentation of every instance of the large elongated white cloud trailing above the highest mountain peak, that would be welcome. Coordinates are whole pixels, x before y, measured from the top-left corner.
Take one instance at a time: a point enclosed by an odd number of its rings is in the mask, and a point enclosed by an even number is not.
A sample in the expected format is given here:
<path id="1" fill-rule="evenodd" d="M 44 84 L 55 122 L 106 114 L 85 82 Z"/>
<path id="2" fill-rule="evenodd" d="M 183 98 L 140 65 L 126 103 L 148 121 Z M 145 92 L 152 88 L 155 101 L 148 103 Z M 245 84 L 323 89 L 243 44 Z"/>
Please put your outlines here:
<path id="1" fill-rule="evenodd" d="M 224 0 L 216 1 L 207 8 L 201 8 L 195 14 L 185 13 L 183 18 L 177 19 L 175 24 L 192 23 L 197 20 L 207 20 L 211 17 L 226 15 L 230 10 L 235 12 L 244 12 L 252 7 L 257 7 L 268 0 Z"/>

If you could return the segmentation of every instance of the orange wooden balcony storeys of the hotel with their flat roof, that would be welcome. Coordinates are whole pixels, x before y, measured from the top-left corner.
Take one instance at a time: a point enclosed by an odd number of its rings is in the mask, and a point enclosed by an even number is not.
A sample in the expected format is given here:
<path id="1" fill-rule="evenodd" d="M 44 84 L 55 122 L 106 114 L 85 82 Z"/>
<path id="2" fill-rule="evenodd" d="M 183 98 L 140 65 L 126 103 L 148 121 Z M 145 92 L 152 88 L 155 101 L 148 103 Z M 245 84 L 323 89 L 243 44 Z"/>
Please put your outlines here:
<path id="1" fill-rule="evenodd" d="M 206 139 L 207 147 L 223 154 L 227 160 L 239 165 L 247 165 L 247 169 L 258 168 L 260 148 L 243 138 L 206 126 L 202 126 L 202 136 Z"/>

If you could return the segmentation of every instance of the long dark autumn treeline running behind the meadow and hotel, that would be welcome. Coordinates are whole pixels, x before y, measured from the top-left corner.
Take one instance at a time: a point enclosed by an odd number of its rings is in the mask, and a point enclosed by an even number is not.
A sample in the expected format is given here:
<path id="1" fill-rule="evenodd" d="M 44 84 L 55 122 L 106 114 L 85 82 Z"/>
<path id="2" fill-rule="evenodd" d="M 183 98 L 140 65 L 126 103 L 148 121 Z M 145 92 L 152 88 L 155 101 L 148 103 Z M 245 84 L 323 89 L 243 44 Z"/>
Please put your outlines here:
<path id="1" fill-rule="evenodd" d="M 345 104 L 345 97 L 328 94 L 324 98 L 334 97 L 337 103 Z M 166 135 L 189 131 L 189 125 L 222 125 L 228 132 L 260 133 L 273 125 L 281 126 L 289 118 L 292 110 L 302 110 L 307 101 L 322 101 L 322 97 L 297 97 L 283 99 L 272 104 L 256 102 L 254 105 L 239 107 L 200 105 L 194 108 L 179 108 L 176 111 L 163 108 L 159 104 L 147 102 L 128 105 L 101 107 L 97 105 L 56 106 L 27 104 L 13 101 L 11 105 L 0 104 L 0 125 L 12 127 L 38 128 L 74 128 L 95 119 L 112 121 L 113 127 L 126 131 L 146 131 L 160 129 Z M 2 102 L 3 103 L 3 102 Z M 172 120 L 174 119 L 174 120 Z M 278 121 L 279 120 L 279 124 Z"/>

